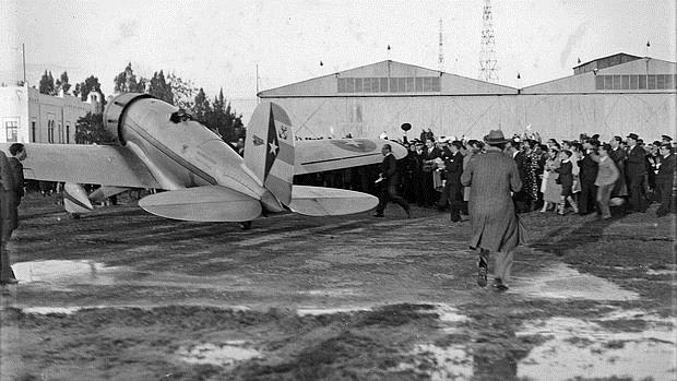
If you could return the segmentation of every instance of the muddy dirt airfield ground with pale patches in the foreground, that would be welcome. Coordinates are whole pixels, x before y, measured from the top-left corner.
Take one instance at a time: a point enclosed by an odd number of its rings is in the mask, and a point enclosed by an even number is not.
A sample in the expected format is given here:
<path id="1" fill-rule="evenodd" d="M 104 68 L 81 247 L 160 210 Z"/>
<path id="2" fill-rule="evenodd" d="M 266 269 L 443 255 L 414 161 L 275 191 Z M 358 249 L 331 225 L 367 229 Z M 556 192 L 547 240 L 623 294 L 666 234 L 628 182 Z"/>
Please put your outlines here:
<path id="1" fill-rule="evenodd" d="M 69 218 L 9 242 L 2 380 L 675 380 L 675 216 L 530 213 L 508 293 L 470 223 L 414 209 L 186 223 Z M 467 218 L 467 217 L 465 217 Z"/>

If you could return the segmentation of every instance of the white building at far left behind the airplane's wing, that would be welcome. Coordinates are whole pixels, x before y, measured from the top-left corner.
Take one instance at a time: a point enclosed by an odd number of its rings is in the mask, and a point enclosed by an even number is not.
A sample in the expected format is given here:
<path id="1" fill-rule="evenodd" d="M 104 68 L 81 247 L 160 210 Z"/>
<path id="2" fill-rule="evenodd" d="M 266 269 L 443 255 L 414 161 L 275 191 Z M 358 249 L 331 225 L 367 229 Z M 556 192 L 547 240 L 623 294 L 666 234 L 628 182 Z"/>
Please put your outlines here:
<path id="1" fill-rule="evenodd" d="M 71 95 L 50 96 L 37 88 L 0 87 L 0 142 L 75 143 L 75 123 L 87 112 L 100 112 L 98 93 L 88 102 Z"/>

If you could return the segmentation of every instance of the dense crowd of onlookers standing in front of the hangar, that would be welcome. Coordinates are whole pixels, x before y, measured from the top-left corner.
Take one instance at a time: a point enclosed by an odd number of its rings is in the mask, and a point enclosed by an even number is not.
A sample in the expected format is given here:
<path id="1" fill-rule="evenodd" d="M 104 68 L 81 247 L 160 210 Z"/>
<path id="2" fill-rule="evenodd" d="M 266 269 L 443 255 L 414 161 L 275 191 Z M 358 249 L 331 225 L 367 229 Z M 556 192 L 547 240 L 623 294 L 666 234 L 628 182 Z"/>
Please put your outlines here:
<path id="1" fill-rule="evenodd" d="M 470 189 L 460 179 L 467 164 L 486 152 L 485 143 L 424 131 L 404 144 L 409 151 L 400 163 L 401 194 L 419 206 L 449 210 L 452 221 L 461 221 Z M 668 135 L 646 144 L 636 133 L 607 142 L 596 134 L 558 142 L 525 133 L 509 139 L 503 153 L 515 160 L 523 182 L 512 195 L 518 213 L 596 212 L 606 219 L 614 207 L 643 213 L 652 202 L 660 203 L 658 217 L 673 211 L 675 154 Z"/>

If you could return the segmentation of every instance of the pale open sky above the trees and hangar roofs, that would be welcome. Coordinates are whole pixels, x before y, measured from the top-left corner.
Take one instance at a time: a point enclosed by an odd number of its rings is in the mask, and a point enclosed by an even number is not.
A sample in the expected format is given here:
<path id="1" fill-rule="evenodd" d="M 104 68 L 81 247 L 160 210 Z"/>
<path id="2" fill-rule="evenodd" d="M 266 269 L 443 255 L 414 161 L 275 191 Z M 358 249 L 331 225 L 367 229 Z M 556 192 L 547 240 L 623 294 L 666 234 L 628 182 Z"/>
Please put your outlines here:
<path id="1" fill-rule="evenodd" d="M 0 0 L 0 82 L 97 76 L 128 62 L 248 108 L 260 91 L 385 59 L 477 79 L 485 0 Z M 627 52 L 676 57 L 675 0 L 491 0 L 498 83 L 524 87 Z M 650 47 L 646 47 L 646 43 Z M 390 51 L 387 47 L 390 45 Z M 323 64 L 320 66 L 320 62 Z M 521 79 L 516 78 L 520 73 Z M 249 100 L 247 100 L 249 99 Z M 256 105 L 256 102 L 254 102 Z M 242 111 L 247 112 L 247 110 Z"/>

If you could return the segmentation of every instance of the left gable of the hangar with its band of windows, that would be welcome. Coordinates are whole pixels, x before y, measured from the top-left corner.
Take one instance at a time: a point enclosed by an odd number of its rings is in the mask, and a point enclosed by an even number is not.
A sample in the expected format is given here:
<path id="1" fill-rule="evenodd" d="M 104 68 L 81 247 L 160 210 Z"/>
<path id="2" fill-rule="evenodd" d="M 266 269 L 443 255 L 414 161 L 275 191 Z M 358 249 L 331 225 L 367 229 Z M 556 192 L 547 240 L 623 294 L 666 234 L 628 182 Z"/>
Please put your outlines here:
<path id="1" fill-rule="evenodd" d="M 270 97 L 354 97 L 516 94 L 516 88 L 385 60 L 266 90 Z"/>

